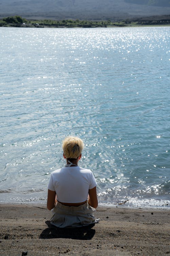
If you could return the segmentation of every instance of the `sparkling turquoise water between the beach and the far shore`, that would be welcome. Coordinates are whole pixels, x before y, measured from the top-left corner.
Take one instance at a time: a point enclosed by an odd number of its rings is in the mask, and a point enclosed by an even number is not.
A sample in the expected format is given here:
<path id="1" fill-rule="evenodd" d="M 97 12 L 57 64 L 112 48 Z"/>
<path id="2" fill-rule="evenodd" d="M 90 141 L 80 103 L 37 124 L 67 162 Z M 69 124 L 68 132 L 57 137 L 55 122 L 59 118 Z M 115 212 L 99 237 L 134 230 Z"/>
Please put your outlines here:
<path id="1" fill-rule="evenodd" d="M 0 201 L 45 202 L 62 140 L 101 204 L 170 204 L 170 27 L 0 28 Z"/>

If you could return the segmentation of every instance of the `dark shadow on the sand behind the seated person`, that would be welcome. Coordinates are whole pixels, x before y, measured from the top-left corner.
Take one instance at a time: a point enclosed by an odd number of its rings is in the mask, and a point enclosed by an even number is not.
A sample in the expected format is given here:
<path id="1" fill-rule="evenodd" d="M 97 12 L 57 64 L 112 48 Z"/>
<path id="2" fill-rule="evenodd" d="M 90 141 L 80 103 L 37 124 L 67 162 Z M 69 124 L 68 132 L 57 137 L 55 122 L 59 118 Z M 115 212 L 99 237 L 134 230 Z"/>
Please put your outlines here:
<path id="1" fill-rule="evenodd" d="M 50 221 L 46 221 L 48 228 L 44 229 L 40 234 L 40 239 L 50 238 L 71 238 L 78 240 L 90 240 L 95 234 L 95 229 L 91 229 L 95 224 L 80 228 L 57 228 L 51 225 Z"/>

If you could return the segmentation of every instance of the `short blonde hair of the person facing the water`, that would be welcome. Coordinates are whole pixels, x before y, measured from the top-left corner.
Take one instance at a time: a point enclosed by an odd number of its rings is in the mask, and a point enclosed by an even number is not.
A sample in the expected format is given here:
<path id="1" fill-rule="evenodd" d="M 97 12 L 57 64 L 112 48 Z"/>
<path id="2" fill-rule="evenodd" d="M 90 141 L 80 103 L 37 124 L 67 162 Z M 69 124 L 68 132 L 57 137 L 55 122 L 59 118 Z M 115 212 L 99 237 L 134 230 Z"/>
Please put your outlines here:
<path id="1" fill-rule="evenodd" d="M 64 139 L 62 147 L 66 158 L 77 159 L 82 153 L 84 143 L 78 137 L 69 136 Z"/>

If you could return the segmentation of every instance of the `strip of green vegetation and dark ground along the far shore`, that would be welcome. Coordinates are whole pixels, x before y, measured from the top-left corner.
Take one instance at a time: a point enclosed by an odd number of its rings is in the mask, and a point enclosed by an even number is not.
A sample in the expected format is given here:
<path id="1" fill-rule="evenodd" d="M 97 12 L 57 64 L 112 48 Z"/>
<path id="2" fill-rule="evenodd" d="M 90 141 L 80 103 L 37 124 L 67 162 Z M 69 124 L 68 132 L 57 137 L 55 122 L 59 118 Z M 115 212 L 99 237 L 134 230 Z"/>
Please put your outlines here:
<path id="1" fill-rule="evenodd" d="M 170 17 L 167 19 L 136 19 L 122 20 L 121 22 L 111 22 L 111 20 L 91 21 L 91 20 L 27 20 L 20 16 L 12 16 L 0 19 L 0 27 L 30 27 L 30 28 L 96 28 L 96 27 L 130 27 L 130 26 L 151 26 L 170 25 Z"/>

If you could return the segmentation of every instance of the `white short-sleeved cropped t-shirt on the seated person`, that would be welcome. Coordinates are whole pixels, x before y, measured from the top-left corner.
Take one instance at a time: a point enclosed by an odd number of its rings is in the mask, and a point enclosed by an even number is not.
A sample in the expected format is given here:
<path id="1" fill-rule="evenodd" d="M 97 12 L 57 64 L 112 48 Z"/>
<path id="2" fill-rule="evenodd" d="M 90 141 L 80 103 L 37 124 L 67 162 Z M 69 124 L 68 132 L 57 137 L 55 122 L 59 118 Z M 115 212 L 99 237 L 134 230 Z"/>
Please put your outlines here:
<path id="1" fill-rule="evenodd" d="M 48 189 L 56 192 L 59 202 L 80 203 L 87 200 L 88 190 L 96 185 L 97 182 L 92 171 L 73 166 L 53 171 Z"/>

